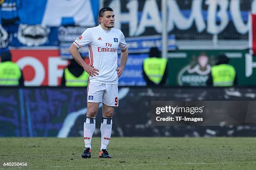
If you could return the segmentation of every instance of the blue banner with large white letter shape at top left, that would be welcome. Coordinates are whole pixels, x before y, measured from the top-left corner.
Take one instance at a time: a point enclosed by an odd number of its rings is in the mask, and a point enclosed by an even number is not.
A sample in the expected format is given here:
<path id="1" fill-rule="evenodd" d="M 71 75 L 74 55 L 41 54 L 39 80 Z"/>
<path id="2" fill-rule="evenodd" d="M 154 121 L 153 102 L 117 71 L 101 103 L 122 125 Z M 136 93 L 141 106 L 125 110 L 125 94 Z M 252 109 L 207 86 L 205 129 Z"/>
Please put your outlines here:
<path id="1" fill-rule="evenodd" d="M 5 0 L 1 16 L 8 23 L 94 26 L 98 6 L 98 0 Z"/>

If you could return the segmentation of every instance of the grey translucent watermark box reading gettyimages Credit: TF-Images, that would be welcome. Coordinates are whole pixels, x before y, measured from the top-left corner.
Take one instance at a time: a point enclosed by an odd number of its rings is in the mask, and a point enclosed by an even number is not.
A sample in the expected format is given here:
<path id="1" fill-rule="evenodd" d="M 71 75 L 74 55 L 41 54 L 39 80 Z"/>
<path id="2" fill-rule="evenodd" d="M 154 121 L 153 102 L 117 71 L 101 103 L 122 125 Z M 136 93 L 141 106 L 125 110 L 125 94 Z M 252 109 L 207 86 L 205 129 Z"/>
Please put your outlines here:
<path id="1" fill-rule="evenodd" d="M 256 101 L 152 101 L 152 125 L 256 125 Z"/>

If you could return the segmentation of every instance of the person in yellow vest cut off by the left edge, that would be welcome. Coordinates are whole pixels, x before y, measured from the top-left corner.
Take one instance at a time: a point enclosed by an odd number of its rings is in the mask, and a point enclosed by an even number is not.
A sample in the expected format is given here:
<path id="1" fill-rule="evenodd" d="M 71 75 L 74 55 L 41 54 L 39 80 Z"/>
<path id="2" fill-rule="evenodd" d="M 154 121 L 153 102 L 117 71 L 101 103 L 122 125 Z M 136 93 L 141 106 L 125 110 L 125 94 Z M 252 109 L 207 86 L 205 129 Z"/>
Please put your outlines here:
<path id="1" fill-rule="evenodd" d="M 20 67 L 12 62 L 12 55 L 8 52 L 1 54 L 0 85 L 1 86 L 24 86 L 24 79 Z"/>

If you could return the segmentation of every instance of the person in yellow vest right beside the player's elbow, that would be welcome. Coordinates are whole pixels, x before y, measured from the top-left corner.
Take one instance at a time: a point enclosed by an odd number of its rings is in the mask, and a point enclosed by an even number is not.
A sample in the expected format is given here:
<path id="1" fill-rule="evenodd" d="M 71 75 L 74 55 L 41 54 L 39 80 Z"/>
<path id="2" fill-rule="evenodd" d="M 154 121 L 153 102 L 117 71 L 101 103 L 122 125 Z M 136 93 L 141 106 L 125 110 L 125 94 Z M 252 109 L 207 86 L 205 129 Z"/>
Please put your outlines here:
<path id="1" fill-rule="evenodd" d="M 89 74 L 74 60 L 64 68 L 61 86 L 88 86 Z"/>

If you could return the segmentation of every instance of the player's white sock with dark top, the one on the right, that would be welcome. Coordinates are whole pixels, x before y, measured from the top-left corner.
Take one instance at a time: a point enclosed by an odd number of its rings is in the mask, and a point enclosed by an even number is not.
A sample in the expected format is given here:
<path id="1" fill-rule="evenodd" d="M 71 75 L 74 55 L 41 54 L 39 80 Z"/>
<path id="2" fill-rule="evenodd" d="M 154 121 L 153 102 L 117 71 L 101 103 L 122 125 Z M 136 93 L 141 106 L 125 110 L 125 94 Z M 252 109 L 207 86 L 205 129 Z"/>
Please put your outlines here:
<path id="1" fill-rule="evenodd" d="M 107 146 L 109 144 L 110 137 L 111 137 L 111 132 L 112 132 L 112 118 L 102 117 L 100 132 L 101 132 L 100 150 L 107 149 Z"/>

